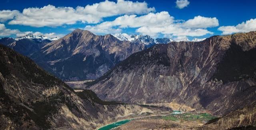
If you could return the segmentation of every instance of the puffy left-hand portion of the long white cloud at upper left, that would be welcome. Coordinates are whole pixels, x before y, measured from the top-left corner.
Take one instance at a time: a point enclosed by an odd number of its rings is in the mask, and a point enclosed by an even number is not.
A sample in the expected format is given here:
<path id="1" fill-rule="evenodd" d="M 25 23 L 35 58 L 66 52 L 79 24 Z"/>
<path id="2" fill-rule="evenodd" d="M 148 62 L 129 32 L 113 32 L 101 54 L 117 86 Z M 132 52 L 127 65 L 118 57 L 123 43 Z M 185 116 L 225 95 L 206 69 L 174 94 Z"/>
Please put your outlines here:
<path id="1" fill-rule="evenodd" d="M 91 15 L 79 14 L 71 7 L 55 7 L 52 5 L 44 6 L 42 8 L 27 8 L 22 14 L 19 14 L 12 21 L 11 25 L 29 25 L 32 27 L 43 26 L 60 26 L 63 24 L 74 24 L 77 21 L 83 23 L 96 23 L 99 18 Z"/>

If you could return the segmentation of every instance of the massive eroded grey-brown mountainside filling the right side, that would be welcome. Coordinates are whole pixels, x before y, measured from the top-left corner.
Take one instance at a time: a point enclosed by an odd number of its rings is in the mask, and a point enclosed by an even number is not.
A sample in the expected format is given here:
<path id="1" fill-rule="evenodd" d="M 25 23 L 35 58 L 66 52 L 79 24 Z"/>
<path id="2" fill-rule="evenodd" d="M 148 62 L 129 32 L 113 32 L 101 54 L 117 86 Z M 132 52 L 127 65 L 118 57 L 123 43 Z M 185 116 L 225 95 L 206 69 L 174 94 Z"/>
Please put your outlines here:
<path id="1" fill-rule="evenodd" d="M 108 101 L 174 102 L 223 115 L 256 99 L 255 45 L 255 31 L 156 45 L 86 84 Z"/>

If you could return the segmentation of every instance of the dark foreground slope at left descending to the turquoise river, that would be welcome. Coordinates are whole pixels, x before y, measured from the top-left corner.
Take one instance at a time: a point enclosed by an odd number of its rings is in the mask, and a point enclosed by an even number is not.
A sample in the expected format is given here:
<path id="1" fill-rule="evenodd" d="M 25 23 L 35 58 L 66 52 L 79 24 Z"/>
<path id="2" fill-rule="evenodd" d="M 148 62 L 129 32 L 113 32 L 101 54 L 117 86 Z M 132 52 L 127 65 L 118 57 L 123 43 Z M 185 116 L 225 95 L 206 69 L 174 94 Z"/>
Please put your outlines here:
<path id="1" fill-rule="evenodd" d="M 29 58 L 0 45 L 1 130 L 92 130 L 131 114 L 159 111 L 101 101 L 92 91 L 74 92 Z"/>

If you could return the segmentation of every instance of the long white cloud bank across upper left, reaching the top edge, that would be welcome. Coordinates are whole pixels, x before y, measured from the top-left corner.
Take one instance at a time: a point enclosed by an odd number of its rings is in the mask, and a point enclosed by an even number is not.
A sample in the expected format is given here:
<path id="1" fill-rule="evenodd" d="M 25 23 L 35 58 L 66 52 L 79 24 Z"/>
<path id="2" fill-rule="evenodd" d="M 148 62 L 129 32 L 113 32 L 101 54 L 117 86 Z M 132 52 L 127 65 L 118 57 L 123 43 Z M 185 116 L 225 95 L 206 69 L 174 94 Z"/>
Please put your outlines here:
<path id="1" fill-rule="evenodd" d="M 32 27 L 56 27 L 64 24 L 98 23 L 104 17 L 118 16 L 123 14 L 147 14 L 154 12 L 155 8 L 148 8 L 146 2 L 132 2 L 118 0 L 117 2 L 104 1 L 87 5 L 85 7 L 55 7 L 52 5 L 42 8 L 25 8 L 22 13 L 13 12 L 10 16 L 0 16 L 0 20 L 12 19 L 11 25 L 29 25 Z M 2 11 L 6 12 L 6 11 Z M 15 12 L 15 13 L 14 13 Z M 3 17 L 3 18 L 1 18 Z"/>

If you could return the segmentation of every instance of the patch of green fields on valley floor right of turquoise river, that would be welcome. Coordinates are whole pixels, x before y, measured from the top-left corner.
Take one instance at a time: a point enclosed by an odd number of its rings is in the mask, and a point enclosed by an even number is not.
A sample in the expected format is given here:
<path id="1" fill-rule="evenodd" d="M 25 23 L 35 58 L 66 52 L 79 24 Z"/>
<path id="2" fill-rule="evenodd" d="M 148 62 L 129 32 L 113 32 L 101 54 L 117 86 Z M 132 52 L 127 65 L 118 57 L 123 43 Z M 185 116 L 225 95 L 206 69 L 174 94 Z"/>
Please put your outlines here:
<path id="1" fill-rule="evenodd" d="M 183 114 L 170 114 L 168 116 L 162 116 L 161 118 L 164 120 L 182 122 L 182 121 L 196 121 L 196 120 L 208 121 L 217 117 L 208 113 L 183 113 Z"/>

